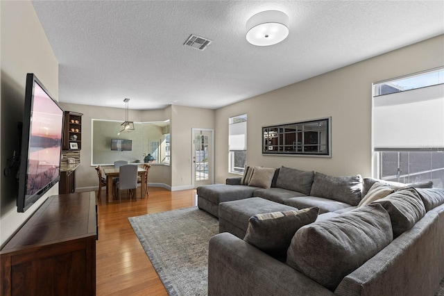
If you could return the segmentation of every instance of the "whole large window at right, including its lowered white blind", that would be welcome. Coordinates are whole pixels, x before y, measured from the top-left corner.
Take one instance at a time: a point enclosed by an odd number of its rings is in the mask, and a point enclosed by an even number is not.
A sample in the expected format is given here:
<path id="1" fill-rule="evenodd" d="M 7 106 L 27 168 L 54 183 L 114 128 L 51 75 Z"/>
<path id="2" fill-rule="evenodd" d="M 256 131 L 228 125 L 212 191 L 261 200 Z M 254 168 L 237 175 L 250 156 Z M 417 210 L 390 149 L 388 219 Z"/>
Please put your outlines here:
<path id="1" fill-rule="evenodd" d="M 373 83 L 374 174 L 444 188 L 444 68 Z"/>

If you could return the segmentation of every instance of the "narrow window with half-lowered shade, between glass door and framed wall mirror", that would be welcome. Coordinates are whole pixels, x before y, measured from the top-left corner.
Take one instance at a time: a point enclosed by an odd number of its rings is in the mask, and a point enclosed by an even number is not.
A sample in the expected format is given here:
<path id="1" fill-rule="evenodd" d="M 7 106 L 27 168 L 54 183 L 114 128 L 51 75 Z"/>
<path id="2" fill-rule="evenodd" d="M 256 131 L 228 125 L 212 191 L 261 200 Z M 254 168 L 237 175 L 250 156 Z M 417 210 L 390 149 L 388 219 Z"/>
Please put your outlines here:
<path id="1" fill-rule="evenodd" d="M 228 172 L 244 174 L 247 163 L 247 115 L 228 120 L 228 145 L 230 150 Z"/>

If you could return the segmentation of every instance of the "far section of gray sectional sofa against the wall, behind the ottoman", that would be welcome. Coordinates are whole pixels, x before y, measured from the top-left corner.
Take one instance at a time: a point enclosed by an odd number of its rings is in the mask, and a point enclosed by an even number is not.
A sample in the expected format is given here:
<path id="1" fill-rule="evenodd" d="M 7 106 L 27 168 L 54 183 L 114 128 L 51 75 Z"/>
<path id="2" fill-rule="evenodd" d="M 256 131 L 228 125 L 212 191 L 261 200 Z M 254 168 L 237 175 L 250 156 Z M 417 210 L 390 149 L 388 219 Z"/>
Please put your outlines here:
<path id="1" fill-rule="evenodd" d="M 251 172 L 248 175 L 248 172 Z M 355 176 L 329 176 L 320 172 L 290 167 L 279 169 L 246 167 L 243 177 L 229 178 L 225 184 L 197 188 L 198 207 L 219 217 L 219 204 L 250 197 L 261 197 L 295 208 L 318 206 L 320 213 L 345 211 L 358 206 L 374 183 L 389 184 L 395 190 L 416 187 L 431 188 L 431 181 L 396 183 Z M 267 174 L 268 172 L 268 174 Z"/>

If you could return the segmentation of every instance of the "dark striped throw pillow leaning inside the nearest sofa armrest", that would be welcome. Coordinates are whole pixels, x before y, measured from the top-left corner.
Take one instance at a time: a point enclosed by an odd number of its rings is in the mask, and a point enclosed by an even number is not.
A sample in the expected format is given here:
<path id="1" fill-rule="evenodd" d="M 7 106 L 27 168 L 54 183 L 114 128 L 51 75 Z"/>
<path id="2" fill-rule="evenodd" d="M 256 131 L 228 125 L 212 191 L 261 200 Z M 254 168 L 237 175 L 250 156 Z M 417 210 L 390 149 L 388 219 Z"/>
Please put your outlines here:
<path id="1" fill-rule="evenodd" d="M 300 227 L 314 222 L 318 213 L 319 208 L 313 207 L 254 215 L 248 220 L 244 240 L 270 256 L 284 258 L 294 233 Z"/>

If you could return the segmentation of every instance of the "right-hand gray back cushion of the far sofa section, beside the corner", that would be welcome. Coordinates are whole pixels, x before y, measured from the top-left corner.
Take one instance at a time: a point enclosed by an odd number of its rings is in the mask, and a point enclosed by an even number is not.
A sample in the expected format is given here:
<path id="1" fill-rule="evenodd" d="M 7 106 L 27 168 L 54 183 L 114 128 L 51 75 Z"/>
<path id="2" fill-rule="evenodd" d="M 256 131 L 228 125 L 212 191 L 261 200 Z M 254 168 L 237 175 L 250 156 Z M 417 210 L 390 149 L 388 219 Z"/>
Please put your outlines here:
<path id="1" fill-rule="evenodd" d="M 362 178 L 356 176 L 329 176 L 316 172 L 310 195 L 334 199 L 357 206 L 361 201 Z"/>

